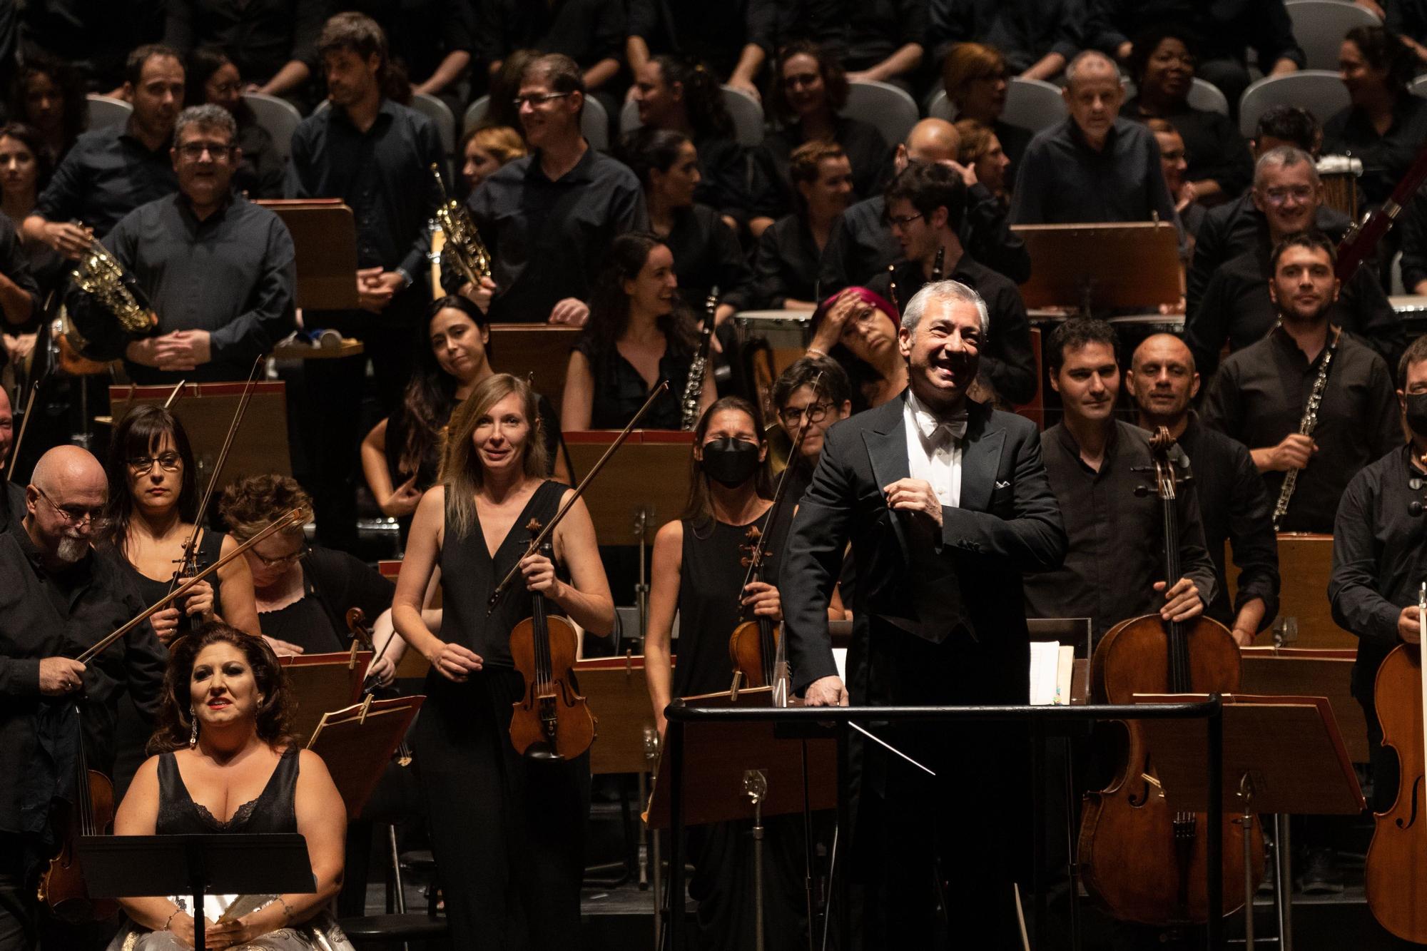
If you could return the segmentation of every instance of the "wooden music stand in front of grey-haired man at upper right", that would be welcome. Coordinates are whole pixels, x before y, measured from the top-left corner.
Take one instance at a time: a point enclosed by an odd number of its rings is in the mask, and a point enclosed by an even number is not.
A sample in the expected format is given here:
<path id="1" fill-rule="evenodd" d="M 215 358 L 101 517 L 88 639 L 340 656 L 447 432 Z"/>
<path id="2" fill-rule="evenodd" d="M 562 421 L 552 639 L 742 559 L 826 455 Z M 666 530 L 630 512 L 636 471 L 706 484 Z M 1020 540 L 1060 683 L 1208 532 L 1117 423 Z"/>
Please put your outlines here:
<path id="1" fill-rule="evenodd" d="M 1169 221 L 1017 224 L 1012 231 L 1030 253 L 1030 280 L 1020 286 L 1026 307 L 1090 314 L 1179 303 L 1179 228 Z"/>

